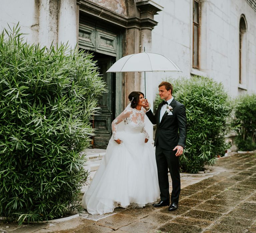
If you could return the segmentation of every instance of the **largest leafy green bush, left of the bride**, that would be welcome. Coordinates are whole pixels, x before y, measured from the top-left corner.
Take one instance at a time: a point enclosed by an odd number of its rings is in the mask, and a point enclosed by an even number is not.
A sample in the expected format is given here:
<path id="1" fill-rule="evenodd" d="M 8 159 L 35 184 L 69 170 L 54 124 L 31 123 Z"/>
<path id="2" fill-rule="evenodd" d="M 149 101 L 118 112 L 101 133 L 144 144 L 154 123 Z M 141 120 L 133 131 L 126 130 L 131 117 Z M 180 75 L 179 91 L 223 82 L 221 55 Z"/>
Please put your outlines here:
<path id="1" fill-rule="evenodd" d="M 0 36 L 0 216 L 42 221 L 79 208 L 96 98 L 91 55 L 40 48 L 17 27 Z"/>

